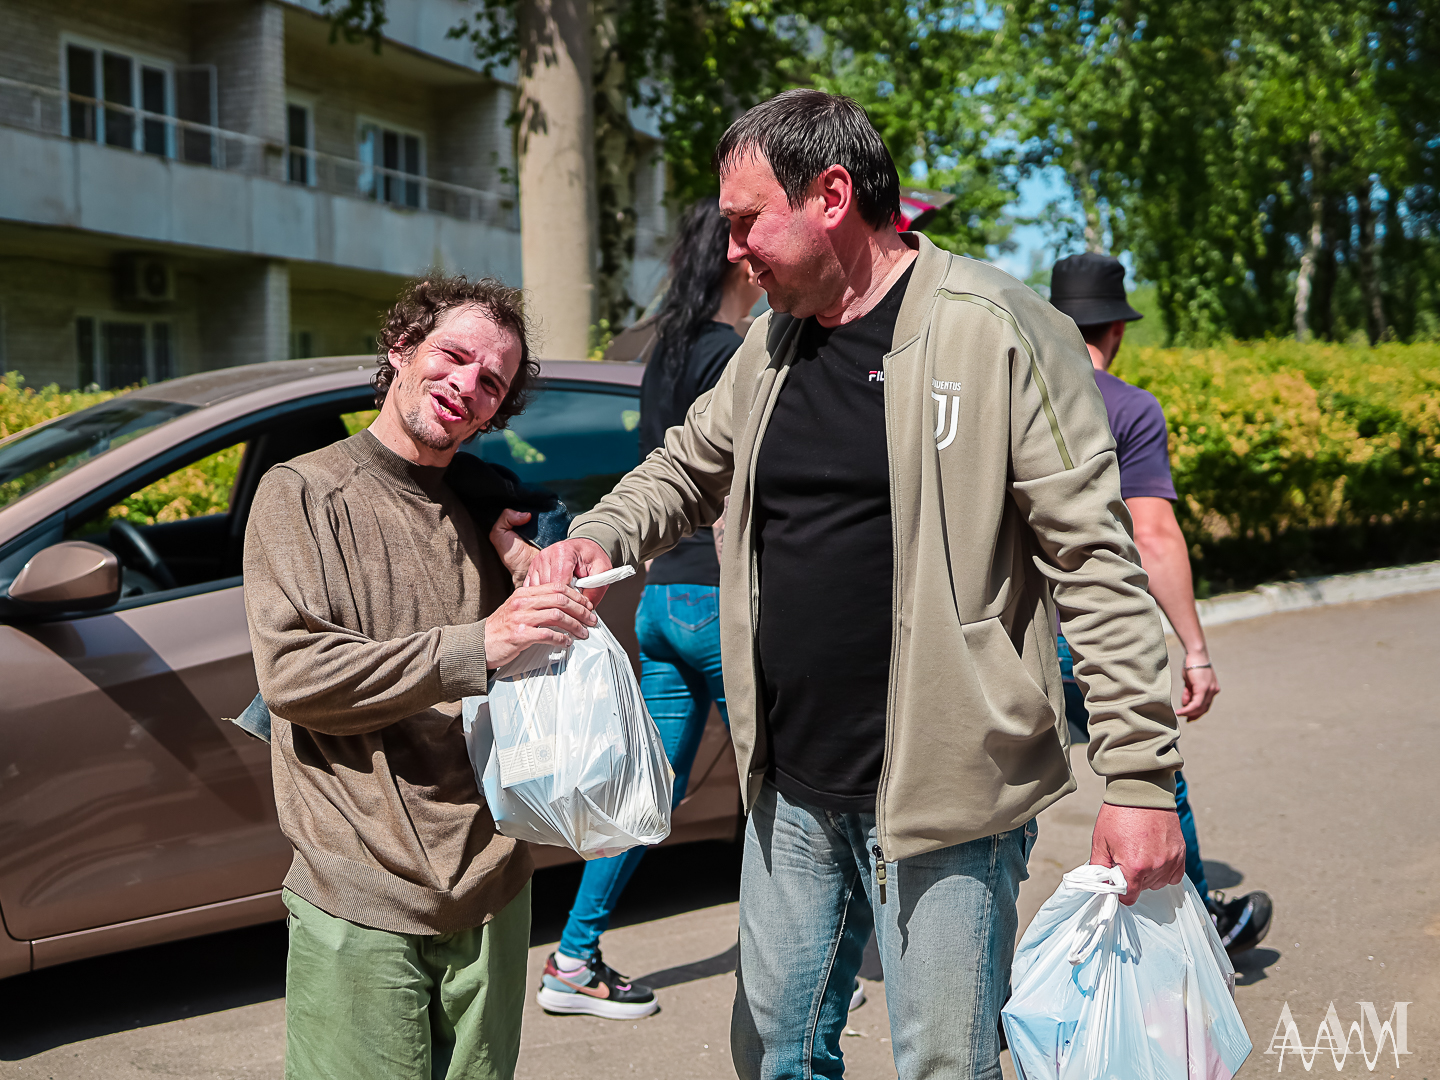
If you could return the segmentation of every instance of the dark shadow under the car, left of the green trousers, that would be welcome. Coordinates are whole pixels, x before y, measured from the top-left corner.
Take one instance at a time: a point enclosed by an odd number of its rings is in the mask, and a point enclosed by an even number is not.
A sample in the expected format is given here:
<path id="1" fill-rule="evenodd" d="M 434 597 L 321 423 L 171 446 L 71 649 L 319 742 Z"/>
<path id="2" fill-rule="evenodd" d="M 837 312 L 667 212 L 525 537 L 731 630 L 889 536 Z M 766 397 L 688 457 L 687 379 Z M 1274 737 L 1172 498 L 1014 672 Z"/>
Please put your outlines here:
<path id="1" fill-rule="evenodd" d="M 0 979 L 0 1060 L 285 995 L 285 923 Z"/>

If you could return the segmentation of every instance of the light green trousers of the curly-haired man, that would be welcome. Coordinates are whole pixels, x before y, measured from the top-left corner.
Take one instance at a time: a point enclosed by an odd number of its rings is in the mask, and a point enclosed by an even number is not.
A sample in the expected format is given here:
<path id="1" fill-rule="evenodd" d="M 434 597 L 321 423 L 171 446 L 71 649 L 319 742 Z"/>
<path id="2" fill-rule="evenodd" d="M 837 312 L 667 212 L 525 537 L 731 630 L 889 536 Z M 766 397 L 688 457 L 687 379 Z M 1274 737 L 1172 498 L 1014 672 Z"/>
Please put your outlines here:
<path id="1" fill-rule="evenodd" d="M 530 884 L 485 926 L 390 933 L 284 891 L 285 1080 L 511 1080 Z"/>

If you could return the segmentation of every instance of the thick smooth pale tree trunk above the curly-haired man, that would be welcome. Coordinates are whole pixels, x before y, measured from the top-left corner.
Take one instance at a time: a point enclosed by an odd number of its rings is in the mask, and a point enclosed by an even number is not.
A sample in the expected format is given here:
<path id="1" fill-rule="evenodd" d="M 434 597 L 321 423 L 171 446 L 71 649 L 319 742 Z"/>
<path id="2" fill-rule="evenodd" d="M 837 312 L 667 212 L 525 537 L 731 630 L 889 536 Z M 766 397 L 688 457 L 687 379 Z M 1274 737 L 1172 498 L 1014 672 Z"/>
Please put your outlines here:
<path id="1" fill-rule="evenodd" d="M 524 0 L 517 153 L 520 253 L 544 356 L 583 360 L 595 321 L 595 124 L 589 0 Z"/>

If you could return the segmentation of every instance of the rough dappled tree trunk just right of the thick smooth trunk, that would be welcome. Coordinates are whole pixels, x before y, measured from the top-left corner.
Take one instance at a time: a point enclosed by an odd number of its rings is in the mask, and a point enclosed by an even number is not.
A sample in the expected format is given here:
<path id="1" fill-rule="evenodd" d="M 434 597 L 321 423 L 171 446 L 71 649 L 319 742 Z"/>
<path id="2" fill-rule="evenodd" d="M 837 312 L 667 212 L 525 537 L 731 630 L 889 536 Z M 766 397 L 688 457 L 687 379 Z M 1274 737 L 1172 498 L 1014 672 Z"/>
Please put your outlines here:
<path id="1" fill-rule="evenodd" d="M 639 140 L 629 122 L 619 14 L 624 0 L 595 0 L 595 174 L 599 226 L 596 317 L 624 325 L 635 308 L 629 271 L 635 261 L 635 166 Z"/>

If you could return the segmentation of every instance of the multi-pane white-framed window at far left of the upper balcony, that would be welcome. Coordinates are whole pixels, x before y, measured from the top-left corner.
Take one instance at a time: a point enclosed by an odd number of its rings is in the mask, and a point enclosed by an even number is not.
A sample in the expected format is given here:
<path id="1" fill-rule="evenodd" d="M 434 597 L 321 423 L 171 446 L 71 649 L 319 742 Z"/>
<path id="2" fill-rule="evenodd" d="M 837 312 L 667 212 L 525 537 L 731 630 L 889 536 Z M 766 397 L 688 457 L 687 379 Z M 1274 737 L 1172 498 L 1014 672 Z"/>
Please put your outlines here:
<path id="1" fill-rule="evenodd" d="M 174 157 L 171 71 L 128 53 L 65 46 L 71 138 Z"/>

